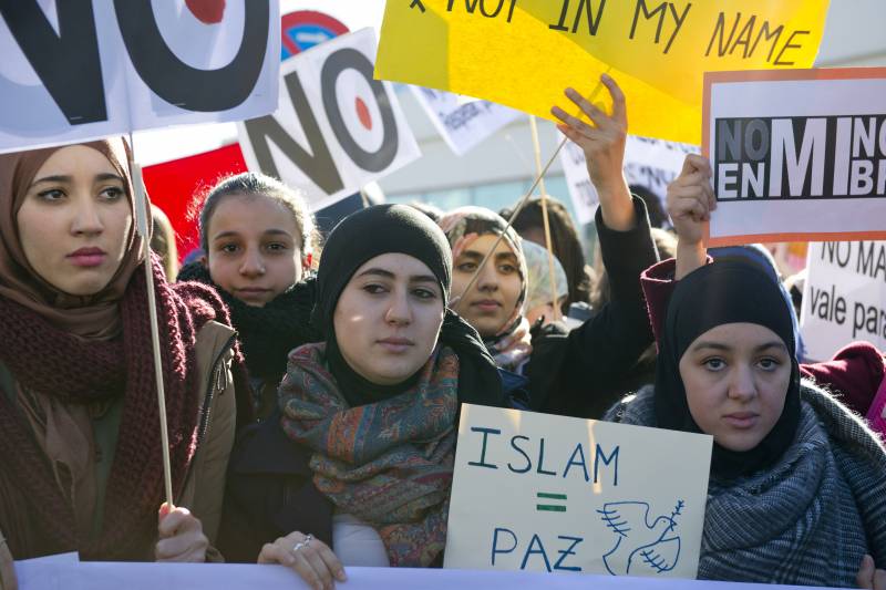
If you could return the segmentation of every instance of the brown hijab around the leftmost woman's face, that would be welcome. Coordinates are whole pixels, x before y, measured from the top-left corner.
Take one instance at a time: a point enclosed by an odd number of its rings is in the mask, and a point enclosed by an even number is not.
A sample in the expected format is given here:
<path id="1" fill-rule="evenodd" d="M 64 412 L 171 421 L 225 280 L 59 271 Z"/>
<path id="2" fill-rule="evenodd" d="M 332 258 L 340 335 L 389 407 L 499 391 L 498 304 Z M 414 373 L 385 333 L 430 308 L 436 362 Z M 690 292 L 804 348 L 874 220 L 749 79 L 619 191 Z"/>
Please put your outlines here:
<path id="1" fill-rule="evenodd" d="M 130 208 L 134 210 L 126 142 L 117 137 L 80 145 L 96 149 L 109 159 L 123 178 Z M 40 277 L 28 263 L 19 237 L 17 218 L 28 188 L 40 167 L 62 147 L 0 154 L 0 297 L 35 311 L 60 330 L 89 340 L 106 340 L 120 333 L 120 300 L 143 260 L 142 238 L 135 224 L 126 236 L 126 252 L 114 277 L 104 289 L 87 297 L 60 291 Z M 147 217 L 150 222 L 151 216 Z"/>

